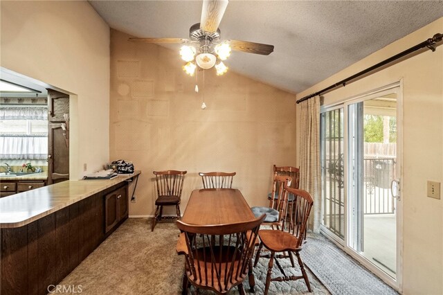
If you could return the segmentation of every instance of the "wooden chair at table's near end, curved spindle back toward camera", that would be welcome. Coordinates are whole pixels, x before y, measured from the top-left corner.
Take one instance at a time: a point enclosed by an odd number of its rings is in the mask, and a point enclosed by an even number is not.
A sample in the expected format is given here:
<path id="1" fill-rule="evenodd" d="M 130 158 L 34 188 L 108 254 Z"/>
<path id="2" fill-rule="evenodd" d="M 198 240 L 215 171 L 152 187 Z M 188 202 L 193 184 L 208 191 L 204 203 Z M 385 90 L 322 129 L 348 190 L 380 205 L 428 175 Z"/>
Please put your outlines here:
<path id="1" fill-rule="evenodd" d="M 247 275 L 253 289 L 251 259 L 264 217 L 250 222 L 206 226 L 177 221 L 181 231 L 177 253 L 186 258 L 183 294 L 188 293 L 188 283 L 217 294 L 226 294 L 237 286 L 239 294 L 245 294 L 243 282 Z"/>

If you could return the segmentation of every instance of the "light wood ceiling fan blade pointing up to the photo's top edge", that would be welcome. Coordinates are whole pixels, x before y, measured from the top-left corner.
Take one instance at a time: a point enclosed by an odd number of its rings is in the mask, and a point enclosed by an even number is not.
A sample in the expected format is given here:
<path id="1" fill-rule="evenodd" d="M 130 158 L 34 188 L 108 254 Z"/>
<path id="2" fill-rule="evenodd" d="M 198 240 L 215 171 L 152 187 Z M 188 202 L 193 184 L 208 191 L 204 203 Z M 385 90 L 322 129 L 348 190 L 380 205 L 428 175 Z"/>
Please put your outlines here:
<path id="1" fill-rule="evenodd" d="M 200 28 L 210 33 L 217 31 L 228 2 L 228 0 L 203 0 Z"/>

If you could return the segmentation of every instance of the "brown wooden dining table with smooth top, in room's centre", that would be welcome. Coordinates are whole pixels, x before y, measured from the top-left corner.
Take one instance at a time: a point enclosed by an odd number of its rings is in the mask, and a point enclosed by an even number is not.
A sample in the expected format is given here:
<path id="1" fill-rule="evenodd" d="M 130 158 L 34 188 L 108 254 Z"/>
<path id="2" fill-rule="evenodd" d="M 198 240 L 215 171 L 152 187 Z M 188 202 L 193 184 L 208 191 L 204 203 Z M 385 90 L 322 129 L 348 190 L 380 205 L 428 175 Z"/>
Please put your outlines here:
<path id="1" fill-rule="evenodd" d="M 187 224 L 219 225 L 255 220 L 242 193 L 234 188 L 192 190 L 181 221 Z M 252 261 L 248 269 L 249 287 L 254 292 Z"/>

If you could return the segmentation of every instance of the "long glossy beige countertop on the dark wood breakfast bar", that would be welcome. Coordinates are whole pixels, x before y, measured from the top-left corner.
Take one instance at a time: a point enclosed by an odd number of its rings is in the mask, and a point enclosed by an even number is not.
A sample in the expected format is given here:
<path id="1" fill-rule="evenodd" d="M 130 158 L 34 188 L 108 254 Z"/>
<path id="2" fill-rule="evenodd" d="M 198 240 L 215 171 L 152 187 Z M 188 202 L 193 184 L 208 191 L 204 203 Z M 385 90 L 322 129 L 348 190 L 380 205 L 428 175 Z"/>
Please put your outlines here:
<path id="1" fill-rule="evenodd" d="M 114 179 L 63 181 L 2 197 L 0 198 L 0 228 L 24 226 L 140 173 L 136 171 L 131 175 L 118 175 Z M 1 181 L 4 182 L 3 179 Z"/>

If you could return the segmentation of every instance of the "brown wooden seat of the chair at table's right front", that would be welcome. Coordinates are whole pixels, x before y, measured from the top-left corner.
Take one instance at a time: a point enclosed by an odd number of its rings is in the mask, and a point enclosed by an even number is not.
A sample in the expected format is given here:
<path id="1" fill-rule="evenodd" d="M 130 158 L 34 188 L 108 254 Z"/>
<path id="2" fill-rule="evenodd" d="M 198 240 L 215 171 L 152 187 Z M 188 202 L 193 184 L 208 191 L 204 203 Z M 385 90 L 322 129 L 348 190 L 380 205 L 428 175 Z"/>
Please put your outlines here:
<path id="1" fill-rule="evenodd" d="M 276 231 L 272 229 L 261 229 L 258 236 L 264 247 L 274 252 L 296 251 L 298 238 L 284 231 Z"/>

